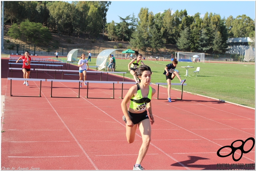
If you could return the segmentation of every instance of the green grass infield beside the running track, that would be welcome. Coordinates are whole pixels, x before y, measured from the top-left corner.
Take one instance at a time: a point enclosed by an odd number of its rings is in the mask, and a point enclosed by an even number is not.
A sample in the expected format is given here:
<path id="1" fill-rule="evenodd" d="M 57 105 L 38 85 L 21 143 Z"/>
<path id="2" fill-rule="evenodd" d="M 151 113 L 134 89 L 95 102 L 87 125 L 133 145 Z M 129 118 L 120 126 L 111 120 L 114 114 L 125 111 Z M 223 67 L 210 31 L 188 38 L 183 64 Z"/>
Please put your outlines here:
<path id="1" fill-rule="evenodd" d="M 66 60 L 66 58 L 64 58 Z M 133 78 L 128 71 L 130 60 L 116 59 L 117 72 L 127 72 L 126 77 Z M 163 75 L 164 67 L 170 61 L 144 60 L 145 65 L 150 66 L 153 74 L 151 82 L 166 82 Z M 77 64 L 77 63 L 74 63 Z M 89 66 L 96 65 L 96 58 L 88 63 Z M 189 68 L 185 77 L 186 68 L 181 66 L 194 66 Z M 196 67 L 200 67 L 200 76 L 192 76 Z M 94 68 L 93 68 L 94 69 Z M 252 64 L 232 64 L 232 63 L 196 63 L 179 62 L 176 69 L 180 72 L 181 79 L 186 79 L 187 85 L 183 90 L 208 97 L 218 98 L 255 108 L 255 65 Z M 120 74 L 123 75 L 123 74 Z M 172 82 L 179 82 L 174 78 Z M 174 89 L 181 89 L 181 86 L 172 86 Z"/>

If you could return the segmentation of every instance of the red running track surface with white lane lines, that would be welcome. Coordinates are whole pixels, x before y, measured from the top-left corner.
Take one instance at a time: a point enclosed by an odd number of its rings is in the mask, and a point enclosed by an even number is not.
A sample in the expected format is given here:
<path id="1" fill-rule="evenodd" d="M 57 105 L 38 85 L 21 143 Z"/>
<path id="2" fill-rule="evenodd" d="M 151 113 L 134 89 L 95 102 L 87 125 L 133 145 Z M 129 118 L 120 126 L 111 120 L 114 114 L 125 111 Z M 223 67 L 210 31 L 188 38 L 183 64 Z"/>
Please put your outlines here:
<path id="1" fill-rule="evenodd" d="M 39 58 L 39 57 L 38 57 Z M 78 69 L 70 66 L 70 69 Z M 40 170 L 131 170 L 142 140 L 128 144 L 120 107 L 121 84 L 115 85 L 114 99 L 87 99 L 87 88 L 80 98 L 51 98 L 51 83 L 42 82 L 42 97 L 10 97 L 8 58 L 1 59 L 1 95 L 5 95 L 1 133 L 1 168 L 40 168 Z M 34 77 L 33 77 L 34 76 Z M 38 74 L 39 76 L 39 74 Z M 22 78 L 22 72 L 12 77 Z M 61 79 L 61 74 L 56 75 Z M 32 73 L 35 78 L 35 71 Z M 54 73 L 40 73 L 40 78 L 54 79 Z M 63 79 L 78 79 L 65 75 Z M 106 81 L 106 75 L 102 75 Z M 122 81 L 109 74 L 108 81 Z M 99 75 L 88 74 L 87 80 Z M 126 79 L 125 81 L 132 81 Z M 40 82 L 12 81 L 12 95 L 37 96 Z M 189 84 L 189 82 L 187 82 Z M 77 83 L 54 82 L 53 96 L 78 96 Z M 113 96 L 112 84 L 89 85 L 90 97 Z M 124 84 L 124 95 L 131 85 Z M 152 85 L 157 90 L 156 85 Z M 186 86 L 184 87 L 186 91 Z M 160 87 L 159 98 L 167 97 Z M 123 96 L 124 96 L 123 95 Z M 255 169 L 231 167 L 231 164 L 255 164 L 255 147 L 235 162 L 232 155 L 220 158 L 219 148 L 235 140 L 255 138 L 255 110 L 205 97 L 171 90 L 172 103 L 153 98 L 152 140 L 142 166 L 147 170 Z M 156 97 L 156 95 L 155 95 Z M 235 146 L 242 143 L 237 142 Z M 244 145 L 249 150 L 252 141 Z M 227 155 L 230 150 L 222 150 Z M 238 159 L 241 151 L 237 150 Z M 217 164 L 229 167 L 217 167 Z M 255 165 L 254 165 L 255 166 Z"/>

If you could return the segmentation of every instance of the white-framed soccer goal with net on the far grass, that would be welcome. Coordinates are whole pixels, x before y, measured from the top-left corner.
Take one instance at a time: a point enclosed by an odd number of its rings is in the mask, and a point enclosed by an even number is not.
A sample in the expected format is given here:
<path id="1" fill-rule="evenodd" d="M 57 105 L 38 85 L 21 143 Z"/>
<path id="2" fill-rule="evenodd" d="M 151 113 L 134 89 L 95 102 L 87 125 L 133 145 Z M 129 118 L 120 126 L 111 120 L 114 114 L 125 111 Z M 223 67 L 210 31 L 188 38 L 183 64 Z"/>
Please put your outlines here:
<path id="1" fill-rule="evenodd" d="M 175 58 L 176 57 L 178 61 L 188 62 L 188 61 L 193 61 L 194 58 L 198 58 L 198 59 L 200 58 L 200 62 L 204 62 L 204 53 L 175 52 Z"/>

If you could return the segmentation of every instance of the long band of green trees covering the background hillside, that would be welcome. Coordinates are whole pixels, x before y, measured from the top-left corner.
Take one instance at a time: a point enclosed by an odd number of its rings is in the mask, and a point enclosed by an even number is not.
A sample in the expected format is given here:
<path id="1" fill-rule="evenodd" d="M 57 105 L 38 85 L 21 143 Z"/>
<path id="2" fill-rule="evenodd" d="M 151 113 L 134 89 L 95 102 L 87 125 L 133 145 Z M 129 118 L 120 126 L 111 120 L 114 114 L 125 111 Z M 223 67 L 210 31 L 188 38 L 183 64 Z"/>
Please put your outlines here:
<path id="1" fill-rule="evenodd" d="M 111 1 L 4 1 L 4 24 L 10 26 L 5 36 L 37 46 L 53 46 L 53 35 L 92 42 L 100 38 L 129 42 L 132 49 L 151 54 L 169 45 L 180 51 L 225 53 L 229 37 L 255 37 L 255 21 L 244 14 L 222 19 L 207 12 L 200 18 L 200 13 L 187 15 L 186 9 L 153 14 L 142 7 L 138 16 L 107 23 L 109 5 Z"/>

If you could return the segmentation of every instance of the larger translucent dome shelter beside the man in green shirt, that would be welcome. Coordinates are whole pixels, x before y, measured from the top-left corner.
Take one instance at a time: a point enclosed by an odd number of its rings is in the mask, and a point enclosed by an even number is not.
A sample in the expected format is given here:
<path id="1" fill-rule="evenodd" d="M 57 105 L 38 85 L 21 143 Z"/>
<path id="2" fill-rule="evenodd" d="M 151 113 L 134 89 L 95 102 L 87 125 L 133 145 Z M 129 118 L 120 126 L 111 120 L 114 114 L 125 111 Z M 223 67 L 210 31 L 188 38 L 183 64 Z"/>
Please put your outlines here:
<path id="1" fill-rule="evenodd" d="M 106 63 L 108 61 L 109 55 L 111 54 L 115 56 L 116 50 L 120 49 L 105 49 L 99 53 L 99 55 L 96 58 L 96 66 L 99 66 L 99 70 L 102 70 L 103 68 L 107 67 Z"/>

